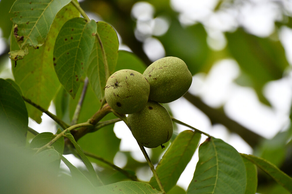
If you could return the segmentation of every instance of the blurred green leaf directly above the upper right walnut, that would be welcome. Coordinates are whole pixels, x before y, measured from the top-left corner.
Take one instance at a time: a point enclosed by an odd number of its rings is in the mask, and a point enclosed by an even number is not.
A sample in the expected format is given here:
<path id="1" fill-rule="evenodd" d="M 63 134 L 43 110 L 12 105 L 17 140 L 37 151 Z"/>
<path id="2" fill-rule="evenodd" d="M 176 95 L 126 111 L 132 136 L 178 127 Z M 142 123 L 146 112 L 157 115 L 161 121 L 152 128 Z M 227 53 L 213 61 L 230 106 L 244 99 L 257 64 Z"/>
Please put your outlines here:
<path id="1" fill-rule="evenodd" d="M 201 24 L 182 27 L 173 19 L 167 33 L 157 38 L 163 44 L 166 56 L 182 59 L 192 75 L 204 68 L 210 50 L 206 42 L 207 33 Z"/>

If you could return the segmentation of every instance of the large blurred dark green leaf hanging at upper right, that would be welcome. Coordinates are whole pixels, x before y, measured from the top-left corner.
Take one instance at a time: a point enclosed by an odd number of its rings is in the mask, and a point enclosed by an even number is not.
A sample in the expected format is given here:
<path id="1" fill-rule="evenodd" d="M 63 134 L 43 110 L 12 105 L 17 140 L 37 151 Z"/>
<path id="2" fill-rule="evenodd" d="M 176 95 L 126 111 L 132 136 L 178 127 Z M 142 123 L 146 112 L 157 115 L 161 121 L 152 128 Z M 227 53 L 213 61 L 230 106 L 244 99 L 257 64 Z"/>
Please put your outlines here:
<path id="1" fill-rule="evenodd" d="M 260 101 L 269 104 L 262 94 L 264 84 L 282 77 L 289 66 L 280 41 L 260 38 L 239 29 L 226 33 L 228 48 L 241 70 L 252 80 Z"/>

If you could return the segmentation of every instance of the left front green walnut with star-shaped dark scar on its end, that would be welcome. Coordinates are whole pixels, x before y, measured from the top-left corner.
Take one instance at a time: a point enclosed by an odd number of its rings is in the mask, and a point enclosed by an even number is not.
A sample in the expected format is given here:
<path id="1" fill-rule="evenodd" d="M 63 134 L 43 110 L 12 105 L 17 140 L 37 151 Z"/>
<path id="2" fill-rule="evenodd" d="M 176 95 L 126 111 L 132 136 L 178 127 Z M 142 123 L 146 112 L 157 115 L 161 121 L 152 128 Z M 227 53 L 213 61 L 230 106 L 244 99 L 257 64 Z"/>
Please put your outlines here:
<path id="1" fill-rule="evenodd" d="M 141 73 L 122 69 L 111 75 L 104 90 L 108 105 L 118 113 L 132 114 L 141 110 L 148 101 L 150 86 Z"/>

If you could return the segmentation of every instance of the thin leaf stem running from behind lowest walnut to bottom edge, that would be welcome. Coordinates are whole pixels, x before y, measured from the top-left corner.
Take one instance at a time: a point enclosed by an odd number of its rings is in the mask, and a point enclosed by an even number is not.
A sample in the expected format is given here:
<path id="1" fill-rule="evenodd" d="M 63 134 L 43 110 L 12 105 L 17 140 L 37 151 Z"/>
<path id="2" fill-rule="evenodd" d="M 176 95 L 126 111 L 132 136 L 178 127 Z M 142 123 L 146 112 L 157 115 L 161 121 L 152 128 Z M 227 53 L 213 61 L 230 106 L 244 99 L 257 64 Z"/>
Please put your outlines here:
<path id="1" fill-rule="evenodd" d="M 115 112 L 115 111 L 113 111 L 113 113 L 114 113 L 117 117 L 119 117 L 120 119 L 122 119 L 122 121 L 124 121 L 125 124 L 128 126 L 128 128 L 131 130 L 131 127 L 130 127 L 129 124 L 128 124 L 128 120 L 127 120 L 127 117 L 126 117 L 125 114 L 119 114 L 119 113 L 117 113 L 117 112 Z M 139 142 L 137 142 L 137 143 L 138 143 L 138 145 L 139 145 L 139 147 L 140 147 L 140 149 L 141 149 L 141 151 L 142 151 L 142 153 L 143 153 L 143 155 L 144 155 L 144 157 L 145 157 L 145 159 L 146 159 L 146 161 L 147 161 L 147 163 L 148 163 L 148 165 L 149 165 L 151 171 L 153 172 L 153 175 L 154 175 L 154 177 L 155 177 L 155 179 L 156 179 L 156 181 L 157 181 L 157 184 L 158 184 L 158 186 L 159 186 L 159 188 L 160 188 L 160 191 L 163 192 L 163 193 L 165 193 L 164 188 L 163 188 L 163 186 L 162 186 L 162 184 L 161 184 L 161 182 L 160 182 L 160 180 L 159 180 L 158 174 L 157 174 L 157 172 L 155 171 L 155 167 L 154 167 L 153 163 L 151 162 L 151 160 L 150 160 L 150 158 L 149 158 L 149 156 L 148 156 L 148 154 L 147 154 L 145 148 L 144 148 L 141 144 L 139 144 Z"/>

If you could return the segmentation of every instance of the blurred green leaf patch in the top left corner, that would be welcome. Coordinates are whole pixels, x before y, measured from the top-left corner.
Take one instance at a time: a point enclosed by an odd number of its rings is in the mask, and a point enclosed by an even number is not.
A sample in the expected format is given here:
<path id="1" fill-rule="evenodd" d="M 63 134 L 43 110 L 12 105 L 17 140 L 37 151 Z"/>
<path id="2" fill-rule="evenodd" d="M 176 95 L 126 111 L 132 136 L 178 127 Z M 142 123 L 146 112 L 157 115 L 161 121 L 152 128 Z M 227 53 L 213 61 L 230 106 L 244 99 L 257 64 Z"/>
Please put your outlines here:
<path id="1" fill-rule="evenodd" d="M 1 13 L 1 20 L 0 20 L 0 28 L 2 30 L 2 36 L 4 38 L 8 38 L 10 36 L 12 22 L 10 20 L 13 17 L 12 13 L 9 13 L 11 6 L 13 5 L 14 0 L 1 0 L 0 1 L 0 13 Z"/>

